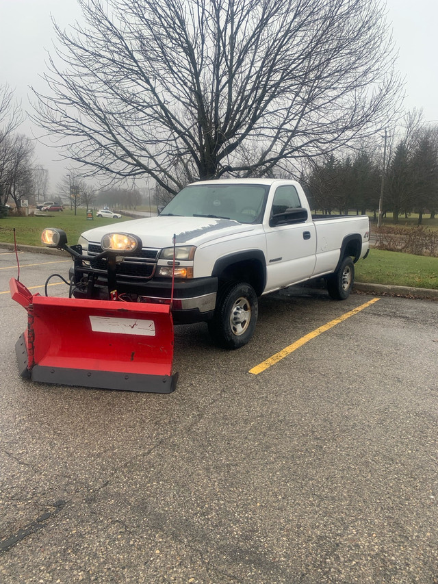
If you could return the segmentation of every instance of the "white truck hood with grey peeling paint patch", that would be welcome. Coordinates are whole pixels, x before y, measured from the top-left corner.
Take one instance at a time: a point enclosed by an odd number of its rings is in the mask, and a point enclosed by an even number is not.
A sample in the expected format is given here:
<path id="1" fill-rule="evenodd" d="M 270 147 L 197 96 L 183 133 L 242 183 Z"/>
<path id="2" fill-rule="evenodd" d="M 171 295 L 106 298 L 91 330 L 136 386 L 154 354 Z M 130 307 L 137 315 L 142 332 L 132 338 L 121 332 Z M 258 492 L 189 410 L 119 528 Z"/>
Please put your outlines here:
<path id="1" fill-rule="evenodd" d="M 172 246 L 174 234 L 177 245 L 199 246 L 211 240 L 253 230 L 254 225 L 230 219 L 157 216 L 88 229 L 82 233 L 82 237 L 89 242 L 100 243 L 107 233 L 132 233 L 142 240 L 144 247 L 163 249 Z"/>

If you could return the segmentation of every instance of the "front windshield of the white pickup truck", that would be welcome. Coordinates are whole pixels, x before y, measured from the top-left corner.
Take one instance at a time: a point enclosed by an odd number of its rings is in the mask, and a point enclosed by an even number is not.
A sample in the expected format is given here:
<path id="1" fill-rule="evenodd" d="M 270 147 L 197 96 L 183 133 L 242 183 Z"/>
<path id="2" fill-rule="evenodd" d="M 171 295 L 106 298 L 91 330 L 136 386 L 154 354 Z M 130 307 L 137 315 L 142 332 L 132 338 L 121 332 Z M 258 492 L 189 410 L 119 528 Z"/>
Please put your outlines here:
<path id="1" fill-rule="evenodd" d="M 187 186 L 160 215 L 216 217 L 239 223 L 261 223 L 269 187 L 257 184 Z"/>

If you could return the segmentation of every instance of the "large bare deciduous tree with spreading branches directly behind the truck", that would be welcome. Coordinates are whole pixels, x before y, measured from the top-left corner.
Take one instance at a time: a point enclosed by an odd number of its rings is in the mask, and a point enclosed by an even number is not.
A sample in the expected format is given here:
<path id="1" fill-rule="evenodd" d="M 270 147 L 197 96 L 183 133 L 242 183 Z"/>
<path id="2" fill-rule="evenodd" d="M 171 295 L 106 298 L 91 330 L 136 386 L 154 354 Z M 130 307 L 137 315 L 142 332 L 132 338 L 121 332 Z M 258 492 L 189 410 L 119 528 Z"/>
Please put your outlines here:
<path id="1" fill-rule="evenodd" d="M 378 131 L 400 79 L 376 0 L 78 0 L 36 120 L 90 172 L 269 175 Z M 63 64 L 60 63 L 60 59 Z"/>

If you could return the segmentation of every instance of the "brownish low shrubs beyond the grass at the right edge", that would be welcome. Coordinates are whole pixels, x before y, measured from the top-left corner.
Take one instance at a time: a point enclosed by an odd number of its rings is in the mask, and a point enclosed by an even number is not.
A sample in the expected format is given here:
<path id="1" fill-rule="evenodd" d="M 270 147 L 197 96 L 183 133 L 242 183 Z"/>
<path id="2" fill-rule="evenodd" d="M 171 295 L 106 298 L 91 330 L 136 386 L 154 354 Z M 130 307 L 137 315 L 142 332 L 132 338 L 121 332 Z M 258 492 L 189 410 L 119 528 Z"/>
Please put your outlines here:
<path id="1" fill-rule="evenodd" d="M 409 228 L 383 225 L 374 234 L 377 249 L 438 257 L 438 232 L 422 225 Z"/>

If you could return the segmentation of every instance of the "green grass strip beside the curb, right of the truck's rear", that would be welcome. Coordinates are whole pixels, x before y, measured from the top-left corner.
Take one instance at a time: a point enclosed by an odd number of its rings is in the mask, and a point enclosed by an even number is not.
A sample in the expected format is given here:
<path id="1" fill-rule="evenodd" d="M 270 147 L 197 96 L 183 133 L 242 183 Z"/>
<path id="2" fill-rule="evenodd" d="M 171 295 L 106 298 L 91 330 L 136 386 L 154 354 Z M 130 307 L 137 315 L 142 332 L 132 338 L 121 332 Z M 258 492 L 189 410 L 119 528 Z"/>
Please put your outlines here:
<path id="1" fill-rule="evenodd" d="M 357 282 L 438 290 L 438 257 L 371 249 L 355 268 Z"/>

